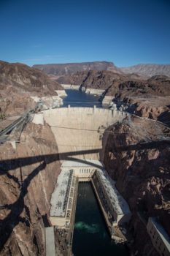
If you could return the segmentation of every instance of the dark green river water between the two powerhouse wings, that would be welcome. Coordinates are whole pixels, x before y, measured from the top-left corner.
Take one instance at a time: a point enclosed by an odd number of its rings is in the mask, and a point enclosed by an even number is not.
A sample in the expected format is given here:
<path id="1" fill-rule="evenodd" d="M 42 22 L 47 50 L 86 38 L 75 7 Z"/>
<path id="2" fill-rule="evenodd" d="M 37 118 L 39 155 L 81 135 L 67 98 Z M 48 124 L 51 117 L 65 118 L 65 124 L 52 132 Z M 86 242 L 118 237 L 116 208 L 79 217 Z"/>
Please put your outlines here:
<path id="1" fill-rule="evenodd" d="M 90 182 L 79 184 L 72 252 L 75 256 L 128 256 L 125 246 L 111 240 Z"/>

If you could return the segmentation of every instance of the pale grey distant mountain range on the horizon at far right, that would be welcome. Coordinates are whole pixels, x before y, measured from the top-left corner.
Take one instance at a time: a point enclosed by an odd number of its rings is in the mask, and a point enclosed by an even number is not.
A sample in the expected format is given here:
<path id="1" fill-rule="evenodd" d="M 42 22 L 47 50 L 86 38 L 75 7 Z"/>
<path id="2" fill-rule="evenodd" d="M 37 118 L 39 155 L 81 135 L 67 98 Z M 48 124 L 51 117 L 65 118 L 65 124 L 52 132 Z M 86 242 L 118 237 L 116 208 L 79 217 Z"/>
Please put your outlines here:
<path id="1" fill-rule="evenodd" d="M 130 74 L 135 73 L 138 75 L 167 75 L 170 77 L 170 64 L 138 64 L 131 67 L 120 67 L 120 71 Z"/>

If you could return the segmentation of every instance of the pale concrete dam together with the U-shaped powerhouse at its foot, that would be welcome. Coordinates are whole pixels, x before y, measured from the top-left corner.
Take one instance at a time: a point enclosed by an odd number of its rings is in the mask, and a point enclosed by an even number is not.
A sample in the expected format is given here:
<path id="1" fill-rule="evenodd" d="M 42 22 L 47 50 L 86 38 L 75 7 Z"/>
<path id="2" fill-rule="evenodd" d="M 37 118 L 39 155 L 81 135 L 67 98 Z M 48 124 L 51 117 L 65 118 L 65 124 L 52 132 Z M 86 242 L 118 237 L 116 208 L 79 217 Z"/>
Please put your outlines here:
<path id="1" fill-rule="evenodd" d="M 34 116 L 34 123 L 51 127 L 58 145 L 62 165 L 50 200 L 50 228 L 53 234 L 53 227 L 57 227 L 58 233 L 64 236 L 66 244 L 69 244 L 67 255 L 72 255 L 74 217 L 80 181 L 90 181 L 92 184 L 111 238 L 119 242 L 125 241 L 119 225 L 129 221 L 131 211 L 117 191 L 115 181 L 109 178 L 102 163 L 104 156 L 101 151 L 109 135 L 109 132 L 105 132 L 106 129 L 117 121 L 123 121 L 127 116 L 128 113 L 95 106 L 49 109 Z M 49 228 L 46 232 L 50 232 Z M 46 234 L 47 239 L 48 237 Z M 48 244 L 49 241 L 46 240 L 49 248 L 46 255 L 51 256 L 51 246 Z M 55 252 L 54 248 L 53 251 Z"/>

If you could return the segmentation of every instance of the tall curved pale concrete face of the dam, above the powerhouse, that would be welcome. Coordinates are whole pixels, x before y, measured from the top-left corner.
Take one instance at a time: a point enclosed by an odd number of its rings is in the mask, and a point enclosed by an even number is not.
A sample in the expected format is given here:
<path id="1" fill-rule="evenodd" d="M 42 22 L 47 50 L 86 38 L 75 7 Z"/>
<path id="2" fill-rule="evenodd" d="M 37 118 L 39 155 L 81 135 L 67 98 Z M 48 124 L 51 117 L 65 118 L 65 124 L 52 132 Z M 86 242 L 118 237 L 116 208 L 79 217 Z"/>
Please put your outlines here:
<path id="1" fill-rule="evenodd" d="M 45 110 L 44 121 L 50 125 L 58 145 L 61 161 L 74 159 L 101 160 L 105 129 L 122 121 L 127 113 L 104 108 L 56 108 Z M 62 157 L 63 153 L 64 157 Z"/>

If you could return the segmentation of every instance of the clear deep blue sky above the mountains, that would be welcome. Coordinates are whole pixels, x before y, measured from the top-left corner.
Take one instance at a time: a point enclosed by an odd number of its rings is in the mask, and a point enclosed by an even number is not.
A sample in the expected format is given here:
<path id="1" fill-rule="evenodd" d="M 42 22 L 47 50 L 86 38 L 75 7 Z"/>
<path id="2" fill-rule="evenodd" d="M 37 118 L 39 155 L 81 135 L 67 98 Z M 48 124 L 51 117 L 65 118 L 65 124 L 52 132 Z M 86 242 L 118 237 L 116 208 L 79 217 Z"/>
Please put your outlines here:
<path id="1" fill-rule="evenodd" d="M 0 59 L 170 64 L 169 0 L 0 0 Z"/>

